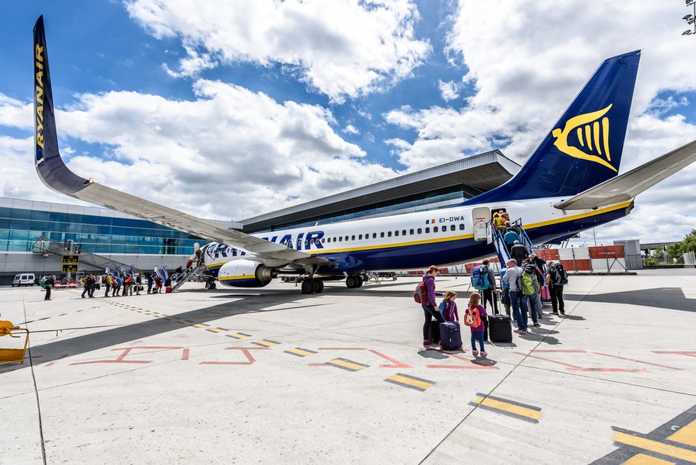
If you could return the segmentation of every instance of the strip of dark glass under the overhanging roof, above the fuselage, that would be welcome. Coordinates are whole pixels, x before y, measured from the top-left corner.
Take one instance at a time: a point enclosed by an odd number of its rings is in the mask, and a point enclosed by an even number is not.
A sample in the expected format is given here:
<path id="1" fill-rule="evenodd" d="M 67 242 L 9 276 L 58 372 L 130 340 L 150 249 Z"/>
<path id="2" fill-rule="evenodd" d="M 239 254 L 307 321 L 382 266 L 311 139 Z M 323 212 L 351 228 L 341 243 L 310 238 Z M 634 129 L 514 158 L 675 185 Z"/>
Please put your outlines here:
<path id="1" fill-rule="evenodd" d="M 341 210 L 340 212 L 312 216 L 311 218 L 305 218 L 288 223 L 279 223 L 274 225 L 272 230 L 301 228 L 303 226 L 314 226 L 317 223 L 338 223 L 339 221 L 348 221 L 351 219 L 376 218 L 378 216 L 391 216 L 394 214 L 447 208 L 479 194 L 483 194 L 483 191 L 476 189 L 475 187 L 459 184 L 456 186 L 442 187 L 441 189 L 435 189 L 433 191 L 413 194 L 411 196 L 394 198 L 384 202 L 363 205 L 362 207 Z M 250 232 L 256 232 L 256 230 Z"/>

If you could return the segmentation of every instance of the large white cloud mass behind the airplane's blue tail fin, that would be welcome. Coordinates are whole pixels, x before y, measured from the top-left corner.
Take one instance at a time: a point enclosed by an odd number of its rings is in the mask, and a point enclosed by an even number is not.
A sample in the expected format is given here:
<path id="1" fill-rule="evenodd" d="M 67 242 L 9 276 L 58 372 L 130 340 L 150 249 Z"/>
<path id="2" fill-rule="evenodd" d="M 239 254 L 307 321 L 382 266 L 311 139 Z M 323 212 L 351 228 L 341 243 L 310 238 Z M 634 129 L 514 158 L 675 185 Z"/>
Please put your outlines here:
<path id="1" fill-rule="evenodd" d="M 416 134 L 412 141 L 387 142 L 409 171 L 491 148 L 522 163 L 604 58 L 642 49 L 621 166 L 625 172 L 696 139 L 696 126 L 683 116 L 664 116 L 688 100 L 658 98 L 663 91 L 696 87 L 693 67 L 684 58 L 693 40 L 680 36 L 683 14 L 681 3 L 674 2 L 644 2 L 640 8 L 603 2 L 587 8 L 555 0 L 461 0 L 451 17 L 447 53 L 461 58 L 467 69 L 463 79 L 474 91 L 461 109 L 385 113 L 388 123 Z M 696 224 L 696 198 L 688 188 L 696 184 L 695 170 L 690 167 L 649 189 L 637 198 L 628 219 L 598 228 L 598 235 L 679 239 Z M 652 206 L 668 200 L 681 216 L 656 215 L 660 209 Z M 679 223 L 664 228 L 662 221 Z"/>

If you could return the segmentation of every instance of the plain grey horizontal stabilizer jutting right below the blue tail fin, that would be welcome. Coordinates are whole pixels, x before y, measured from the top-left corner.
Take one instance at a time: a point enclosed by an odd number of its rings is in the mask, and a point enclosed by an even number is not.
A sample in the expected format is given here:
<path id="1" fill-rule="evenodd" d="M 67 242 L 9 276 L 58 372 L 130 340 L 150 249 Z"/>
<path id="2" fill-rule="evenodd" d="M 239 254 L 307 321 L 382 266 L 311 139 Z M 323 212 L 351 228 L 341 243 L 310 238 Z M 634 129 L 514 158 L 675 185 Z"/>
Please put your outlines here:
<path id="1" fill-rule="evenodd" d="M 587 210 L 626 202 L 696 161 L 696 141 L 633 168 L 568 200 L 554 205 L 563 210 Z"/>

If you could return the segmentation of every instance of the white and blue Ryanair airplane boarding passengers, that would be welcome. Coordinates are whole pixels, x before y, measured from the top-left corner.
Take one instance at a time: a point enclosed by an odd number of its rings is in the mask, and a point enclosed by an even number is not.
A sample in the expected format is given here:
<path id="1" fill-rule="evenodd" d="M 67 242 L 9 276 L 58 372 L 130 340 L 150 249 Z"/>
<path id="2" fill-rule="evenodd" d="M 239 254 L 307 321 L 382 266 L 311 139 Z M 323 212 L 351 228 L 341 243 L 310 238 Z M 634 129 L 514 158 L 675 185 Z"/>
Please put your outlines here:
<path id="1" fill-rule="evenodd" d="M 696 141 L 619 175 L 640 50 L 607 58 L 510 180 L 440 210 L 246 234 L 72 173 L 59 152 L 43 17 L 33 29 L 35 163 L 50 189 L 210 240 L 206 274 L 230 287 L 263 287 L 279 274 L 362 285 L 367 271 L 422 269 L 495 255 L 491 212 L 518 216 L 534 245 L 559 243 L 622 218 L 637 194 L 696 161 Z M 483 226 L 483 227 L 481 227 Z M 504 265 L 504 264 L 502 264 Z"/>

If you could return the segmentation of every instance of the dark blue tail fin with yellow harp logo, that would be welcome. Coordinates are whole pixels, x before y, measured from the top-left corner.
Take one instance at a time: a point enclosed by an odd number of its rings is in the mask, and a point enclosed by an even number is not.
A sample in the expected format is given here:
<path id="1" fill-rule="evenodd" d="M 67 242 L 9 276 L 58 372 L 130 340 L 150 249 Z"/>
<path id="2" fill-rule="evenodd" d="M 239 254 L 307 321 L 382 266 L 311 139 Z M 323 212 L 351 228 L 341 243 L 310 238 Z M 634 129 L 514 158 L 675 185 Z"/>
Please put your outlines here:
<path id="1" fill-rule="evenodd" d="M 608 58 L 511 180 L 462 205 L 575 196 L 616 176 L 640 50 Z"/>

